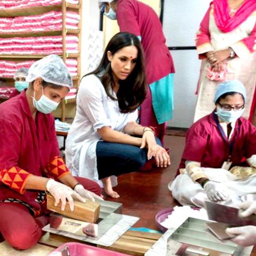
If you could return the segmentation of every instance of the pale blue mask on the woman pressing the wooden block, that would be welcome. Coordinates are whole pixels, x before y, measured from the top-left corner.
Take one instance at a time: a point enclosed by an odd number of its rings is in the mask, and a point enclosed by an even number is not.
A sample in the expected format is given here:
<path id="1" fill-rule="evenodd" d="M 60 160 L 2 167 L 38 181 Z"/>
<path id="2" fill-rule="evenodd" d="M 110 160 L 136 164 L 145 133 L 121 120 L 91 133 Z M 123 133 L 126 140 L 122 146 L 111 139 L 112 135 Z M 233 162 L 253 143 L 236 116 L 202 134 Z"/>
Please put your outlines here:
<path id="1" fill-rule="evenodd" d="M 35 96 L 35 94 L 36 94 L 36 91 L 34 91 L 34 96 Z M 43 89 L 42 89 L 42 96 L 38 101 L 36 101 L 35 97 L 32 97 L 32 99 L 33 99 L 34 107 L 39 112 L 42 112 L 44 114 L 49 114 L 49 113 L 53 112 L 54 110 L 56 110 L 56 108 L 59 105 L 59 103 L 57 103 L 56 101 L 50 100 L 48 97 L 46 97 L 43 94 Z"/>

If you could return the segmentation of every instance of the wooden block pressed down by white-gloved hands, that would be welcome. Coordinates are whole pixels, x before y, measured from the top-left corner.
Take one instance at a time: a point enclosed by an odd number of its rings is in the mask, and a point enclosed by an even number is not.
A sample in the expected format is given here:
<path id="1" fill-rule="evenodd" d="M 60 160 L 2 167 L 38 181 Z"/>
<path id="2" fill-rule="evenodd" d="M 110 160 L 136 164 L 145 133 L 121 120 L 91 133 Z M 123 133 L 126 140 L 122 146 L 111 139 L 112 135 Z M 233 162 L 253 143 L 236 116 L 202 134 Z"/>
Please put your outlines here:
<path id="1" fill-rule="evenodd" d="M 55 199 L 52 195 L 47 195 L 47 209 L 51 210 L 55 213 L 62 214 L 64 216 L 82 220 L 85 222 L 95 223 L 100 214 L 100 204 L 90 201 L 89 199 L 86 200 L 85 203 L 82 203 L 76 199 L 74 199 L 74 211 L 71 212 L 69 208 L 69 202 L 67 202 L 64 211 L 61 210 L 61 202 L 57 206 L 54 205 Z"/>

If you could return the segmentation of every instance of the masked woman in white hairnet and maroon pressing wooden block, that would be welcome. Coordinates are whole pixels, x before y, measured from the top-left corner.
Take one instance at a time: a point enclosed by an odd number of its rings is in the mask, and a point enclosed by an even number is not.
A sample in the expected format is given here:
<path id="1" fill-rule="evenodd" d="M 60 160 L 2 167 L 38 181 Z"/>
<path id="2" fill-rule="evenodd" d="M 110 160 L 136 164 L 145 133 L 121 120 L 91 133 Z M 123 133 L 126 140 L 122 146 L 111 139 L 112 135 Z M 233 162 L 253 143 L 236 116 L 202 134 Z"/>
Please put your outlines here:
<path id="1" fill-rule="evenodd" d="M 64 62 L 57 55 L 40 59 L 26 81 L 27 90 L 0 105 L 0 233 L 16 249 L 32 247 L 43 235 L 49 214 L 44 191 L 62 210 L 66 200 L 73 210 L 73 197 L 101 199 L 93 193 L 100 195 L 98 184 L 74 178 L 59 156 L 50 113 L 72 86 Z"/>

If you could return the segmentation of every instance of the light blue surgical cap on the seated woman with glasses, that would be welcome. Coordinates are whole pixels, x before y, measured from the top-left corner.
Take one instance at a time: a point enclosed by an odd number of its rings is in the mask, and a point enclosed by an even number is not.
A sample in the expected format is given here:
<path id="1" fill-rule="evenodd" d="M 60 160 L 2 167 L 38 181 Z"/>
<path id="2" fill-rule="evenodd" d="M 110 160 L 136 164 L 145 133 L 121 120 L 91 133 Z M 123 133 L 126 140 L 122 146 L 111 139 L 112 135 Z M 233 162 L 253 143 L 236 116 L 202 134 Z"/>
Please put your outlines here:
<path id="1" fill-rule="evenodd" d="M 217 86 L 217 91 L 214 97 L 214 102 L 216 103 L 217 99 L 227 92 L 237 92 L 244 96 L 246 101 L 246 89 L 242 82 L 238 80 L 228 80 L 222 82 Z"/>

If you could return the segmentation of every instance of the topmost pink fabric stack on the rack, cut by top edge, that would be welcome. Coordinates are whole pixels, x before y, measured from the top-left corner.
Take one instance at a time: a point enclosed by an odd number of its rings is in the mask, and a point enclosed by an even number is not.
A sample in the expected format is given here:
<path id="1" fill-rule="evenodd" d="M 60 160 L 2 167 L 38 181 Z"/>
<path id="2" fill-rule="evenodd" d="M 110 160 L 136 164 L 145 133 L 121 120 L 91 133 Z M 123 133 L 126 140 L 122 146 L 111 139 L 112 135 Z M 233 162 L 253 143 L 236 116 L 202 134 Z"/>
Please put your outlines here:
<path id="1" fill-rule="evenodd" d="M 66 0 L 66 2 L 78 5 L 79 0 Z M 62 0 L 1 0 L 0 9 L 18 9 L 35 6 L 59 5 Z"/>

